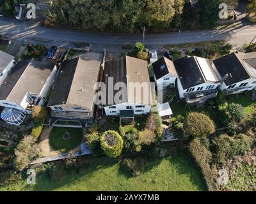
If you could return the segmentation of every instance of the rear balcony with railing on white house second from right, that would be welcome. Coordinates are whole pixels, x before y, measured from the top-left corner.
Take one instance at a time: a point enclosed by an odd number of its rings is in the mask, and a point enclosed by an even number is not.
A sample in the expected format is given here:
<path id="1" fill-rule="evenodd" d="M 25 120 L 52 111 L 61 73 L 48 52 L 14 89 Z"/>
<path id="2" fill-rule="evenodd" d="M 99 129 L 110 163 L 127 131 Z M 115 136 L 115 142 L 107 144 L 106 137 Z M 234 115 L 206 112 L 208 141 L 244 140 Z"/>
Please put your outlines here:
<path id="1" fill-rule="evenodd" d="M 208 99 L 215 98 L 218 94 L 217 89 L 197 91 L 184 94 L 187 103 L 203 103 Z"/>

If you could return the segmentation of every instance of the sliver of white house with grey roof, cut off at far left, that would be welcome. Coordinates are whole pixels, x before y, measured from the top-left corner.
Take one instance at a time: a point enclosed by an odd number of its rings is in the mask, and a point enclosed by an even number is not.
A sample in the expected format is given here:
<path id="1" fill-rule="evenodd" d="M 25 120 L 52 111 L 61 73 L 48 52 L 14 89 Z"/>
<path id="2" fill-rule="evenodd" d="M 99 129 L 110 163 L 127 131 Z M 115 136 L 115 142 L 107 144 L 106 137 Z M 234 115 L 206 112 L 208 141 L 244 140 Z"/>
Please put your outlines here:
<path id="1" fill-rule="evenodd" d="M 14 66 L 14 57 L 0 50 L 0 85 Z"/>

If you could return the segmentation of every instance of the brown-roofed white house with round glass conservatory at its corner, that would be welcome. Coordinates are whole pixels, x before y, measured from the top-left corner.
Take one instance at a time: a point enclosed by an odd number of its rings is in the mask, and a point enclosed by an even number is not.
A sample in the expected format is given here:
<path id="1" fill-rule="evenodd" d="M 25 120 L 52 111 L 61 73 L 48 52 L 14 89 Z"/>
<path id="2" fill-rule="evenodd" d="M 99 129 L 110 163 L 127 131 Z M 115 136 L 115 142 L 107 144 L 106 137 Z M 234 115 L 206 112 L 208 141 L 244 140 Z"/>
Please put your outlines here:
<path id="1" fill-rule="evenodd" d="M 55 64 L 47 60 L 18 62 L 0 86 L 1 120 L 20 125 L 31 108 L 44 105 L 56 71 Z"/>

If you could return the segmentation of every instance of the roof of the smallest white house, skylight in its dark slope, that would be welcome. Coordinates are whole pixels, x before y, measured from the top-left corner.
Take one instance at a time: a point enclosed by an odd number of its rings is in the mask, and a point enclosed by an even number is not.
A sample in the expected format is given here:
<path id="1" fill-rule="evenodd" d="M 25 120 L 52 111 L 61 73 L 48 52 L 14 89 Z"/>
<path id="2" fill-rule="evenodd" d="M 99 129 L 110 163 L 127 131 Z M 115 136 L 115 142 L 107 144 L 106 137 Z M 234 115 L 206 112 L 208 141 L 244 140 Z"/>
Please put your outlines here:
<path id="1" fill-rule="evenodd" d="M 168 73 L 171 73 L 174 76 L 177 76 L 175 66 L 170 59 L 166 57 L 161 57 L 159 60 L 152 64 L 156 79 L 162 78 Z"/>

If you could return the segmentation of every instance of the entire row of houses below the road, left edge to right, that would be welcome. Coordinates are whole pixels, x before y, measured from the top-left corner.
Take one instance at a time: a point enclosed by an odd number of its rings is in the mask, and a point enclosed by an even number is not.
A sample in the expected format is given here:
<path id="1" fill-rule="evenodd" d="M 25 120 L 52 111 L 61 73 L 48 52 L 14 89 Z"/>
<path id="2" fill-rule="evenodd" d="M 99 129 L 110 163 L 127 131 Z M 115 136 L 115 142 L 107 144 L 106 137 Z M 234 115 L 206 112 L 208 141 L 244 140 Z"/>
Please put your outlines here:
<path id="1" fill-rule="evenodd" d="M 217 96 L 218 90 L 237 93 L 256 87 L 256 52 L 234 52 L 215 61 L 195 56 L 175 61 L 162 57 L 152 66 L 157 90 L 177 87 L 187 103 L 203 103 Z M 97 82 L 106 87 L 95 89 Z M 119 87 L 113 87 L 118 83 Z M 148 94 L 129 85 L 136 83 L 148 84 L 141 88 L 147 88 Z M 120 89 L 122 84 L 126 89 Z M 19 126 L 38 105 L 51 110 L 52 126 L 60 121 L 90 126 L 96 109 L 107 116 L 129 119 L 150 113 L 152 89 L 148 62 L 134 57 L 105 62 L 103 53 L 88 52 L 64 61 L 58 69 L 47 59 L 15 63 L 11 55 L 0 51 L 0 117 L 8 124 Z M 117 99 L 109 97 L 112 95 Z M 95 104 L 95 98 L 104 103 Z M 166 112 L 172 113 L 168 105 L 159 106 L 159 113 Z"/>

